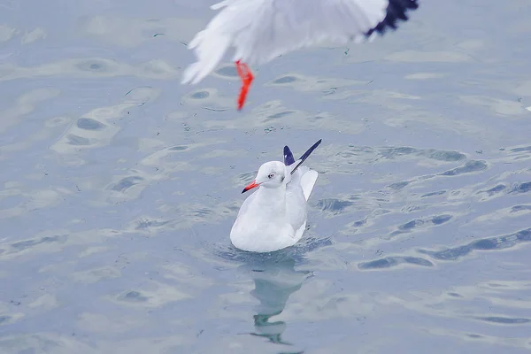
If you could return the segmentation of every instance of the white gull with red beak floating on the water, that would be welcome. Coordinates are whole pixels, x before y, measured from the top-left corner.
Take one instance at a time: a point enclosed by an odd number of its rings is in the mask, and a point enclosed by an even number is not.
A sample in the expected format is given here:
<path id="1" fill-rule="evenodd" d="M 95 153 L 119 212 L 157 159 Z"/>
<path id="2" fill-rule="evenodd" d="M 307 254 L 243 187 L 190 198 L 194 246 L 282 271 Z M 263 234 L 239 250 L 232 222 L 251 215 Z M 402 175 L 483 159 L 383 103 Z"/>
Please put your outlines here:
<path id="1" fill-rule="evenodd" d="M 230 241 L 240 250 L 272 252 L 294 245 L 306 228 L 306 203 L 317 181 L 317 171 L 300 165 L 319 144 L 295 161 L 288 146 L 284 162 L 261 165 L 257 177 L 243 190 L 258 187 L 242 204 L 230 231 Z"/>

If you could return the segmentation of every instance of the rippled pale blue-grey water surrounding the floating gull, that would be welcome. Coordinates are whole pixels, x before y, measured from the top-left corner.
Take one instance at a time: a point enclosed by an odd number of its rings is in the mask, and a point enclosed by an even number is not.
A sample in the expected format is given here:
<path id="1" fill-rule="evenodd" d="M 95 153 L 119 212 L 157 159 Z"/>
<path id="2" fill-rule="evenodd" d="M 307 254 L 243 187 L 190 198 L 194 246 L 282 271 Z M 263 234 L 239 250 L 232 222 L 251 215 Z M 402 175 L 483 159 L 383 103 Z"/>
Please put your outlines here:
<path id="1" fill-rule="evenodd" d="M 531 4 L 421 2 L 377 41 L 181 86 L 212 1 L 0 2 L 0 352 L 531 349 Z M 284 144 L 309 230 L 249 255 Z"/>

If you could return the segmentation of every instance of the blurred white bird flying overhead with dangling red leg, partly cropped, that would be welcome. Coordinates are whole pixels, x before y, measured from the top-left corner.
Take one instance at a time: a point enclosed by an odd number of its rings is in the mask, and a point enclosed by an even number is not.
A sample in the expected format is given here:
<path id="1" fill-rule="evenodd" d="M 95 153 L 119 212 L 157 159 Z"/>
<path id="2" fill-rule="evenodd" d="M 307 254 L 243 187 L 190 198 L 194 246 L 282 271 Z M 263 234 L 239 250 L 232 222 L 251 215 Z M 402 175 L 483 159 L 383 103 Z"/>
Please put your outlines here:
<path id="1" fill-rule="evenodd" d="M 241 110 L 254 76 L 249 65 L 261 65 L 289 51 L 324 42 L 364 42 L 396 29 L 397 20 L 419 7 L 418 0 L 224 0 L 204 30 L 189 42 L 197 61 L 187 67 L 182 83 L 196 84 L 212 73 L 225 52 L 235 48 L 242 80 Z"/>

